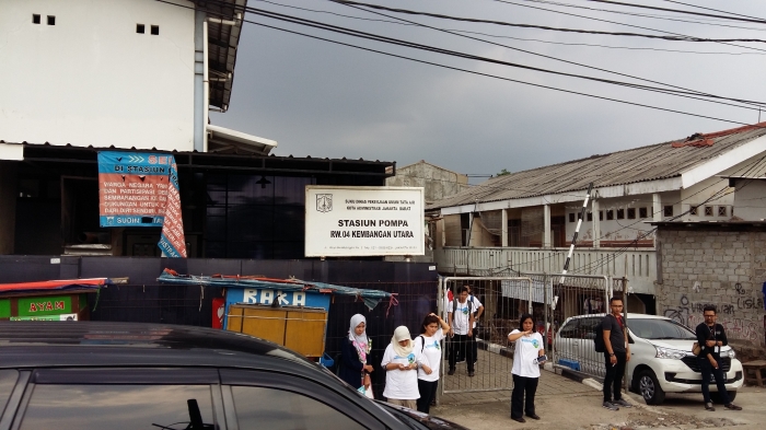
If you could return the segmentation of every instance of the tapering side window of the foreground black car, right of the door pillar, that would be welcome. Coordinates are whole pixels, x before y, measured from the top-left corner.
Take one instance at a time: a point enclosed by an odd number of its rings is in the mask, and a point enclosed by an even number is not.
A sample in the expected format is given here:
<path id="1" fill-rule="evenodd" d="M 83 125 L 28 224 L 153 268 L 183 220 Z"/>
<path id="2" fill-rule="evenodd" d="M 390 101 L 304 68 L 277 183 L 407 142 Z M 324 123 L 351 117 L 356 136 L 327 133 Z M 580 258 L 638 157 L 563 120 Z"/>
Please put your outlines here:
<path id="1" fill-rule="evenodd" d="M 350 417 L 311 397 L 276 388 L 232 386 L 241 429 L 363 429 Z"/>

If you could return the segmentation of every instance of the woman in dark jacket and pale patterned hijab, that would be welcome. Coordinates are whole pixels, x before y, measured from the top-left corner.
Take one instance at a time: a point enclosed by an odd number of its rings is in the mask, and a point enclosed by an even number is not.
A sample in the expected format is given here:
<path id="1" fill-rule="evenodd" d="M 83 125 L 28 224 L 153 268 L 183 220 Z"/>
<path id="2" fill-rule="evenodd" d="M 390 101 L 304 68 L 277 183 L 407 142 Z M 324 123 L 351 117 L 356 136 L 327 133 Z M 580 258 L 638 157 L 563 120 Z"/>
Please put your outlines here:
<path id="1" fill-rule="evenodd" d="M 367 337 L 367 319 L 364 315 L 351 316 L 348 337 L 344 339 L 338 363 L 338 377 L 359 390 L 362 385 L 370 386 L 372 365 L 368 364 L 372 340 Z"/>

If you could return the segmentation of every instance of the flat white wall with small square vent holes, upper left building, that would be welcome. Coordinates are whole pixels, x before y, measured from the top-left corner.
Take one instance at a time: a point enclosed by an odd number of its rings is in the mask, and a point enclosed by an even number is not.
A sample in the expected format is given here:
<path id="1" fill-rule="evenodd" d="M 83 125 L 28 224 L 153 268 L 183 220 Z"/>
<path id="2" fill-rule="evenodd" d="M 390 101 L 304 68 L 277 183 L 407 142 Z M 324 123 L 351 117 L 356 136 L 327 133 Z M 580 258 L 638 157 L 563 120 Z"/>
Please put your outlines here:
<path id="1" fill-rule="evenodd" d="M 0 65 L 0 140 L 194 149 L 194 10 L 153 0 L 2 0 Z"/>

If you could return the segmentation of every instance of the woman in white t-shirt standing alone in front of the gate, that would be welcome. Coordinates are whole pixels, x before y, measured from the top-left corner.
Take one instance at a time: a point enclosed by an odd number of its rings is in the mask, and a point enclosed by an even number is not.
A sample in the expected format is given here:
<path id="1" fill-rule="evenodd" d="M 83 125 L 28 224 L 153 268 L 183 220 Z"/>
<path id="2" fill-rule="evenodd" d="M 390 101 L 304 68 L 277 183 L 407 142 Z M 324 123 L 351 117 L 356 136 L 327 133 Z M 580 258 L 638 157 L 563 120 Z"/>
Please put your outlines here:
<path id="1" fill-rule="evenodd" d="M 545 355 L 543 336 L 535 332 L 532 315 L 524 314 L 519 318 L 521 330 L 514 329 L 508 335 L 508 340 L 515 342 L 513 352 L 513 394 L 511 394 L 511 419 L 526 422 L 522 411 L 532 419 L 539 419 L 535 414 L 535 392 L 539 380 L 539 363 L 537 358 Z M 526 402 L 524 395 L 526 394 Z"/>

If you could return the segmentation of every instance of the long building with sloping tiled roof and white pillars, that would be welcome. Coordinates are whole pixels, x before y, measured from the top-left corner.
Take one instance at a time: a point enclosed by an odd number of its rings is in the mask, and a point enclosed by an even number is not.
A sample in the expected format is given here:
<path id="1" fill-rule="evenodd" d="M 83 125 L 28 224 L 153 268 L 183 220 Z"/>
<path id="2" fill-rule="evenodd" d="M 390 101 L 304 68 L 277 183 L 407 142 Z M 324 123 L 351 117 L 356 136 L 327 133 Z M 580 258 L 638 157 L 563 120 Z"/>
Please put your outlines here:
<path id="1" fill-rule="evenodd" d="M 653 301 L 658 257 L 649 222 L 736 217 L 733 188 L 721 176 L 764 175 L 765 125 L 491 178 L 427 207 L 442 216 L 434 262 L 445 274 L 560 274 L 593 183 L 569 272 L 627 277 L 634 292 Z"/>

